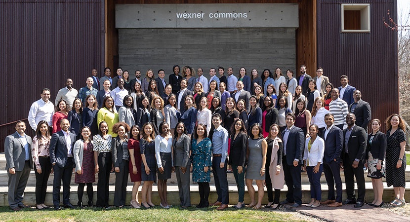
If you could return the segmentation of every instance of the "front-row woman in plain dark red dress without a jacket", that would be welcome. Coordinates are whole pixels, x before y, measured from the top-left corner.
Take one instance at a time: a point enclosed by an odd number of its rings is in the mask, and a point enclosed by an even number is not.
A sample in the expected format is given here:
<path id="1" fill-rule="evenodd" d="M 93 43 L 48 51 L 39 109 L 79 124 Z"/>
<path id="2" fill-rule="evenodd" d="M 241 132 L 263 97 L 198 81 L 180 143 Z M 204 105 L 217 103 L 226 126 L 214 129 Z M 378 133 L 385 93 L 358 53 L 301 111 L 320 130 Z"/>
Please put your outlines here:
<path id="1" fill-rule="evenodd" d="M 128 152 L 129 152 L 129 177 L 131 182 L 134 183 L 132 186 L 132 195 L 130 205 L 133 208 L 141 208 L 138 202 L 138 188 L 141 185 L 141 151 L 139 148 L 140 140 L 140 128 L 137 125 L 131 126 L 129 135 L 131 138 L 128 140 Z"/>

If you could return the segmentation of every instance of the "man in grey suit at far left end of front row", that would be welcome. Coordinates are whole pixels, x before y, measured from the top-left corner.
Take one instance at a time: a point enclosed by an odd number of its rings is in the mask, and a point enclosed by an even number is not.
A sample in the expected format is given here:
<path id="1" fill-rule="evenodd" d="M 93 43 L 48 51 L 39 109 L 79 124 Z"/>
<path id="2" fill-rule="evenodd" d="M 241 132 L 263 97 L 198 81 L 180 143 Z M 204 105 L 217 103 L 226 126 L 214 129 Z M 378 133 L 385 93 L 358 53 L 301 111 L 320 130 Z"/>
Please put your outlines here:
<path id="1" fill-rule="evenodd" d="M 16 132 L 4 140 L 4 155 L 8 175 L 8 205 L 11 210 L 19 211 L 23 204 L 23 193 L 33 168 L 31 137 L 26 135 L 26 123 L 17 121 Z"/>

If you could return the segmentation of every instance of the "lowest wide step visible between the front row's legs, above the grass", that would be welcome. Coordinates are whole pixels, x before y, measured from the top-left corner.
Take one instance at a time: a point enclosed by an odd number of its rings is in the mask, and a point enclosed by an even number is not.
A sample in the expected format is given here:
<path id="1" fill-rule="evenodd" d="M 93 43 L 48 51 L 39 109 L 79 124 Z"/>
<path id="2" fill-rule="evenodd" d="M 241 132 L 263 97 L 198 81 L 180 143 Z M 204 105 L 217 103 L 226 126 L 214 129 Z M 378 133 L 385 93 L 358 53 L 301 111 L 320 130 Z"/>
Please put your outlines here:
<path id="1" fill-rule="evenodd" d="M 386 183 L 383 183 L 384 185 L 384 192 L 383 192 L 383 199 L 388 202 L 394 199 L 394 191 L 393 187 L 387 187 Z M 139 187 L 139 191 L 141 191 L 142 185 Z M 257 186 L 253 185 L 254 189 L 257 192 Z M 410 187 L 410 182 L 407 182 L 407 187 Z M 94 198 L 93 198 L 93 203 L 96 203 L 96 190 L 97 186 L 93 185 L 94 188 Z M 343 184 L 343 190 L 345 190 L 345 185 Z M 78 202 L 78 197 L 77 197 L 77 185 L 71 185 L 71 190 L 70 190 L 70 202 L 73 205 L 76 205 Z M 85 187 L 84 187 L 85 189 Z M 110 185 L 109 190 L 110 190 L 110 204 L 113 204 L 113 199 L 114 199 L 114 189 L 115 186 Z M 357 186 L 355 185 L 355 189 L 357 191 Z M 126 205 L 129 205 L 129 202 L 131 200 L 131 191 L 132 191 L 132 186 L 128 185 L 127 188 L 127 196 L 126 196 Z M 245 203 L 250 202 L 250 198 L 247 192 L 247 187 L 245 186 Z M 405 192 L 405 199 L 410 199 L 410 188 L 406 189 L 407 191 Z M 198 186 L 197 185 L 191 185 L 190 186 L 190 192 L 191 192 L 191 203 L 193 205 L 199 203 L 199 194 L 198 194 Z M 286 198 L 286 193 L 287 193 L 287 187 L 285 185 L 284 189 L 281 190 L 281 200 L 284 200 Z M 327 185 L 322 185 L 322 200 L 326 200 L 328 197 L 328 186 Z M 6 186 L 1 186 L 0 187 L 0 206 L 8 206 L 8 201 L 7 201 L 8 195 L 7 195 L 7 187 Z M 346 192 L 343 192 L 343 200 L 346 199 Z M 371 183 L 366 183 L 366 197 L 365 197 L 365 202 L 371 202 L 374 198 L 374 193 L 372 190 L 372 185 Z M 60 200 L 62 200 L 62 187 L 60 191 Z M 178 194 L 178 186 L 177 185 L 168 185 L 167 186 L 167 199 L 168 203 L 172 205 L 179 205 L 179 194 Z M 210 186 L 210 195 L 209 195 L 209 202 L 214 202 L 217 199 L 217 194 L 216 194 L 216 188 L 214 185 Z M 83 196 L 83 203 L 86 204 L 88 199 L 86 192 L 84 190 L 84 196 Z M 138 200 L 141 201 L 141 192 L 139 192 Z M 153 195 L 152 195 L 152 200 L 155 205 L 160 204 L 160 198 L 158 195 L 158 189 L 157 185 L 153 185 Z M 25 189 L 24 193 L 24 204 L 34 206 L 36 204 L 36 195 L 35 195 L 35 186 L 27 186 Z M 262 203 L 266 204 L 268 202 L 267 195 L 266 195 L 266 188 L 265 188 L 265 195 L 263 198 Z M 310 202 L 310 185 L 302 185 L 302 202 L 303 203 L 308 203 Z M 229 204 L 236 204 L 238 203 L 238 191 L 236 185 L 230 185 L 229 186 Z M 47 193 L 46 193 L 46 199 L 45 199 L 45 204 L 51 206 L 52 205 L 52 186 L 47 187 Z M 62 203 L 61 203 L 62 204 Z"/>

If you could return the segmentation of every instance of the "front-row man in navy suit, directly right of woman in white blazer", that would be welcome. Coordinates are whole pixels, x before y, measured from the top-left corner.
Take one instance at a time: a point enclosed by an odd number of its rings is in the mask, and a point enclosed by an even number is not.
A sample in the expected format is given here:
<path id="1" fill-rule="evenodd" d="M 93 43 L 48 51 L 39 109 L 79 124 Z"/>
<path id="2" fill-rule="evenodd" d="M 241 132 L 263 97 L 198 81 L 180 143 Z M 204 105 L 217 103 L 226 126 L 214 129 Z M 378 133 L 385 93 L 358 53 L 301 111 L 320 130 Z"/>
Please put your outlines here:
<path id="1" fill-rule="evenodd" d="M 322 133 L 325 140 L 325 153 L 323 156 L 323 172 L 328 183 L 328 199 L 320 204 L 328 207 L 342 206 L 342 180 L 340 178 L 340 155 L 343 148 L 343 131 L 333 125 L 334 116 L 331 113 L 325 115 L 326 128 Z M 334 195 L 334 185 L 336 194 Z"/>

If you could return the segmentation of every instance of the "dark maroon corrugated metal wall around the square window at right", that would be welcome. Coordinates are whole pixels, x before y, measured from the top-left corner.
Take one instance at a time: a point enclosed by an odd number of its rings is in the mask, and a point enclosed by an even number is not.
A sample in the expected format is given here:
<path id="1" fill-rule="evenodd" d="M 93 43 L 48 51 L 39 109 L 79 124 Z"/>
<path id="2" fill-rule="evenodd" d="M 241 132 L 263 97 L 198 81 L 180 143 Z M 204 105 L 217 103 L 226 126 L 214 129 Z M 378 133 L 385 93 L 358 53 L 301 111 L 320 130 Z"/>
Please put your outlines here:
<path id="1" fill-rule="evenodd" d="M 370 33 L 341 33 L 341 3 L 370 3 Z M 340 75 L 349 76 L 349 84 L 370 103 L 372 118 L 398 112 L 397 32 L 382 21 L 387 10 L 397 21 L 397 1 L 318 0 L 317 7 L 318 66 L 324 74 L 335 86 Z"/>

